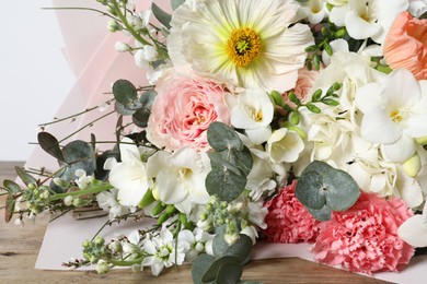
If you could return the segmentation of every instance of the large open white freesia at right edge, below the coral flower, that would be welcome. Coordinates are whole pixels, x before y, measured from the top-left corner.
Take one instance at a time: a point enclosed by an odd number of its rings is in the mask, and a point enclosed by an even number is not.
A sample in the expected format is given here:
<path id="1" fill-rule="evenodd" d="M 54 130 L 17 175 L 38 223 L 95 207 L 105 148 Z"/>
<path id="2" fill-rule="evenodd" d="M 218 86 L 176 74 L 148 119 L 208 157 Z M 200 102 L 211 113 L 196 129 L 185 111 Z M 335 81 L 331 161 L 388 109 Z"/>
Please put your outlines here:
<path id="1" fill-rule="evenodd" d="M 427 94 L 413 74 L 395 70 L 382 83 L 358 90 L 357 107 L 363 113 L 361 135 L 382 144 L 384 155 L 403 163 L 415 153 L 414 138 L 427 134 Z"/>

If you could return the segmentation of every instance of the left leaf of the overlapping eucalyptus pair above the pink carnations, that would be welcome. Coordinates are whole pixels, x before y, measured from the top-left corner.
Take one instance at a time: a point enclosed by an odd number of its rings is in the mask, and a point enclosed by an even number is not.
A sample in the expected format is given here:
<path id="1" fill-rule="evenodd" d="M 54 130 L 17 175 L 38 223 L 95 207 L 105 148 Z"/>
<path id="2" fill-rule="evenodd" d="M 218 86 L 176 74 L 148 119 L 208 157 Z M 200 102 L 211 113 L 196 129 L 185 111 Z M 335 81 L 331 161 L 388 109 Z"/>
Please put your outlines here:
<path id="1" fill-rule="evenodd" d="M 316 171 L 303 173 L 295 189 L 298 200 L 310 209 L 322 209 L 326 203 L 325 193 L 322 176 Z"/>

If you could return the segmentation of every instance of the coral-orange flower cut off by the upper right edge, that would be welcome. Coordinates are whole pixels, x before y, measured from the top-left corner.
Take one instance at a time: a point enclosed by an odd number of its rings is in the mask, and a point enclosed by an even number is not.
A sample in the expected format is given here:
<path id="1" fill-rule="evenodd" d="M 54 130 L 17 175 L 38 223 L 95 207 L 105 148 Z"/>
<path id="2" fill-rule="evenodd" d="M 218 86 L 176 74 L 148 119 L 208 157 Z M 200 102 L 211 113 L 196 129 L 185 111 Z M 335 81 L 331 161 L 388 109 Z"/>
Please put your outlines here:
<path id="1" fill-rule="evenodd" d="M 392 69 L 404 68 L 417 80 L 427 79 L 427 20 L 400 14 L 385 37 L 383 54 Z"/>

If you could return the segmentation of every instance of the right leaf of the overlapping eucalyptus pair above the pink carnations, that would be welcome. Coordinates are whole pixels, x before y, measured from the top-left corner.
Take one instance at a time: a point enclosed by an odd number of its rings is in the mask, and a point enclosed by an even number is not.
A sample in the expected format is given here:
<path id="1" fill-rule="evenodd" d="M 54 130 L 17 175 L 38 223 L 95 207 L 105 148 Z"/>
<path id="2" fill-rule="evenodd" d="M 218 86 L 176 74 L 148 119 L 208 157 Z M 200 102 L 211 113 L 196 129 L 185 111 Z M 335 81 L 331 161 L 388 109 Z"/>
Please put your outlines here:
<path id="1" fill-rule="evenodd" d="M 323 177 L 323 182 L 326 188 L 326 204 L 333 211 L 349 209 L 360 196 L 359 186 L 343 170 L 330 170 Z"/>

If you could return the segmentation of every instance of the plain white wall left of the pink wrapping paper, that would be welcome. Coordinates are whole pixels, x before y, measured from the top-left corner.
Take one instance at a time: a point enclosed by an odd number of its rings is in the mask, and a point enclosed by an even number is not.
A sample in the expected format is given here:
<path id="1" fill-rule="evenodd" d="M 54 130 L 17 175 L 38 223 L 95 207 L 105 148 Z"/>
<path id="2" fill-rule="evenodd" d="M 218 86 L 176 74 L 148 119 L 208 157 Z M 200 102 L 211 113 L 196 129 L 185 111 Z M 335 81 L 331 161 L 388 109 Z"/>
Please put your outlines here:
<path id="1" fill-rule="evenodd" d="M 0 161 L 25 161 L 74 83 L 50 0 L 0 0 Z"/>

